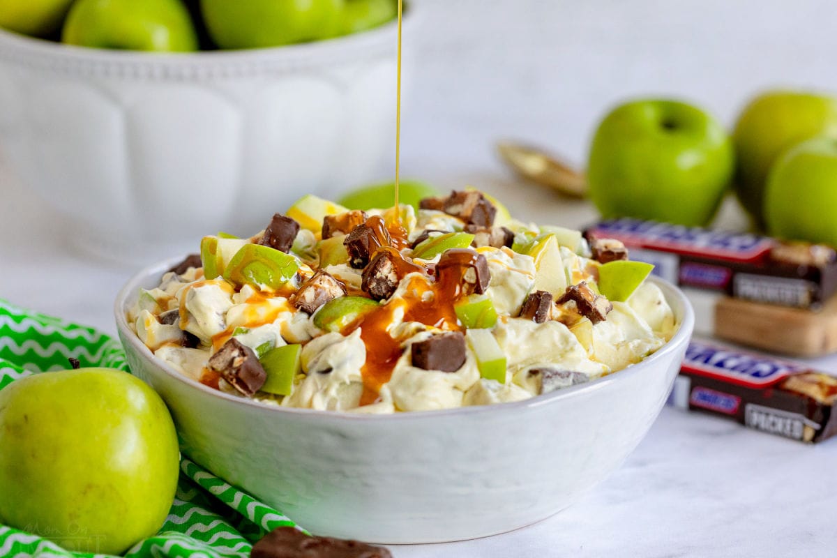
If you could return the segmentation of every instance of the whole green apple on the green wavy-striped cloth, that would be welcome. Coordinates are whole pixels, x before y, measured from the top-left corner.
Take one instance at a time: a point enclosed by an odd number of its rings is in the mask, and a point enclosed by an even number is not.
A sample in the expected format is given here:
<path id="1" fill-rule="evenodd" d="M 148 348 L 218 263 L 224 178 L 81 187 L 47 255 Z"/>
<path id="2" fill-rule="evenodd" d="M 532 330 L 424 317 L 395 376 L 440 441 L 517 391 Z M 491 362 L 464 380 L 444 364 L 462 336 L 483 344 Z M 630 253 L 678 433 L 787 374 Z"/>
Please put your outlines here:
<path id="1" fill-rule="evenodd" d="M 160 529 L 179 452 L 162 399 L 127 372 L 44 372 L 0 391 L 0 518 L 120 554 Z"/>

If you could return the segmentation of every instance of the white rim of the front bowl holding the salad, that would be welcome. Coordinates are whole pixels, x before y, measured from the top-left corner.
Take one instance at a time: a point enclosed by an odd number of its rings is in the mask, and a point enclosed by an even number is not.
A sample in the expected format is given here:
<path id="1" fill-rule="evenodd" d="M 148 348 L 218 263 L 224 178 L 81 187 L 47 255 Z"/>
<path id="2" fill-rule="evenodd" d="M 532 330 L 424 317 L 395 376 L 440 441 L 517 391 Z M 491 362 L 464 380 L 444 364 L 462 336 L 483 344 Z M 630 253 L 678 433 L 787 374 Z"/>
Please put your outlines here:
<path id="1" fill-rule="evenodd" d="M 629 365 L 626 368 L 623 368 L 622 370 L 614 372 L 613 374 L 608 374 L 608 376 L 602 376 L 593 381 L 588 381 L 586 383 L 578 384 L 572 387 L 565 387 L 555 392 L 530 397 L 522 401 L 503 402 L 491 405 L 476 405 L 469 407 L 455 407 L 453 409 L 393 412 L 386 414 L 365 414 L 347 411 L 321 411 L 318 409 L 279 407 L 274 405 L 264 405 L 264 403 L 255 402 L 250 399 L 245 399 L 244 397 L 236 397 L 233 395 L 229 395 L 228 393 L 220 392 L 211 387 L 205 386 L 199 381 L 193 380 L 192 378 L 183 376 L 180 372 L 172 368 L 172 366 L 169 366 L 166 361 L 158 359 L 157 356 L 154 356 L 151 350 L 148 347 L 146 347 L 145 344 L 142 343 L 140 338 L 131 330 L 131 327 L 128 325 L 126 310 L 127 302 L 129 299 L 131 299 L 132 294 L 136 293 L 137 289 L 140 289 L 141 284 L 145 283 L 147 279 L 151 279 L 151 277 L 153 276 L 162 276 L 162 274 L 165 273 L 168 269 L 171 269 L 174 265 L 177 265 L 181 261 L 182 257 L 177 257 L 163 260 L 162 262 L 158 262 L 157 264 L 151 264 L 147 266 L 145 269 L 142 269 L 133 277 L 131 277 L 131 279 L 128 279 L 126 284 L 122 287 L 122 289 L 120 289 L 119 294 L 116 295 L 116 301 L 114 302 L 114 315 L 116 317 L 117 330 L 121 334 L 122 338 L 129 340 L 129 343 L 131 343 L 131 345 L 135 347 L 136 351 L 143 358 L 146 358 L 146 360 L 148 360 L 152 366 L 157 366 L 168 376 L 173 376 L 177 381 L 180 381 L 189 387 L 198 388 L 198 390 L 207 393 L 208 395 L 211 395 L 213 397 L 221 397 L 222 399 L 225 399 L 231 403 L 237 403 L 244 406 L 254 407 L 254 409 L 262 409 L 264 412 L 276 413 L 277 416 L 280 416 L 285 413 L 290 413 L 293 415 L 319 418 L 323 420 L 331 420 L 337 418 L 341 421 L 345 421 L 348 419 L 352 421 L 388 422 L 404 420 L 421 420 L 423 418 L 429 417 L 470 416 L 473 414 L 480 414 L 484 412 L 516 412 L 520 411 L 521 409 L 542 407 L 546 405 L 551 405 L 554 402 L 561 401 L 562 399 L 567 397 L 574 397 L 579 393 L 597 391 L 605 386 L 613 384 L 614 382 L 621 381 L 619 380 L 619 378 L 628 378 L 629 376 L 641 374 L 644 371 L 647 371 L 649 368 L 653 368 L 656 361 L 665 360 L 665 356 L 670 355 L 671 352 L 678 351 L 681 346 L 685 347 L 691 339 L 692 330 L 695 326 L 695 312 L 691 306 L 691 302 L 688 298 L 686 298 L 686 294 L 684 294 L 682 290 L 678 289 L 675 285 L 670 284 L 665 279 L 661 279 L 660 277 L 655 275 L 650 275 L 648 279 L 650 279 L 652 283 L 660 287 L 660 290 L 663 291 L 666 300 L 673 299 L 676 300 L 678 304 L 680 304 L 682 308 L 680 324 L 678 325 L 675 335 L 672 335 L 671 339 L 666 341 L 665 345 L 661 346 L 660 349 L 655 351 L 651 356 L 647 356 L 643 361 L 639 361 L 635 364 Z"/>

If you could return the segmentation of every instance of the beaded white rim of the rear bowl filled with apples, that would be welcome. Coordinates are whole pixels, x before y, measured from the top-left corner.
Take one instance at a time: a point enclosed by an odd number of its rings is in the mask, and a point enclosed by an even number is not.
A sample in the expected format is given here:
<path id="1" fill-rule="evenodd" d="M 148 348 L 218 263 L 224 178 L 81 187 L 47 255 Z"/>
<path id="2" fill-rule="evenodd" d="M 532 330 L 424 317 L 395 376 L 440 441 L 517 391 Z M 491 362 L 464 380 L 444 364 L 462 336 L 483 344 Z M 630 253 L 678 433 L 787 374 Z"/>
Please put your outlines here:
<path id="1" fill-rule="evenodd" d="M 420 12 L 420 9 L 419 9 Z M 405 33 L 416 20 L 414 3 L 403 13 Z M 138 50 L 95 49 L 30 37 L 0 28 L 0 61 L 23 64 L 49 72 L 115 77 L 160 78 L 241 77 L 311 65 L 332 66 L 379 57 L 396 50 L 398 23 L 390 21 L 360 33 L 310 43 L 257 49 L 198 50 L 159 53 Z"/>

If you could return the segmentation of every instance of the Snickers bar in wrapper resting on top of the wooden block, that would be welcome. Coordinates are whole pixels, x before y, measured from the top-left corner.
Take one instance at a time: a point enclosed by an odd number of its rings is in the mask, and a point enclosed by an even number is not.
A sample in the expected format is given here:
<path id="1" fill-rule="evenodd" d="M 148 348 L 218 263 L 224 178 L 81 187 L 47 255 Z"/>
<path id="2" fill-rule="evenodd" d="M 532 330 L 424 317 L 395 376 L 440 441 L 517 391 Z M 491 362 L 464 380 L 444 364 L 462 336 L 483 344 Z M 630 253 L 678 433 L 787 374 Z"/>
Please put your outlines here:
<path id="1" fill-rule="evenodd" d="M 654 264 L 655 274 L 681 287 L 805 309 L 837 291 L 837 258 L 822 245 L 632 218 L 603 221 L 585 234 L 622 241 L 630 259 Z"/>

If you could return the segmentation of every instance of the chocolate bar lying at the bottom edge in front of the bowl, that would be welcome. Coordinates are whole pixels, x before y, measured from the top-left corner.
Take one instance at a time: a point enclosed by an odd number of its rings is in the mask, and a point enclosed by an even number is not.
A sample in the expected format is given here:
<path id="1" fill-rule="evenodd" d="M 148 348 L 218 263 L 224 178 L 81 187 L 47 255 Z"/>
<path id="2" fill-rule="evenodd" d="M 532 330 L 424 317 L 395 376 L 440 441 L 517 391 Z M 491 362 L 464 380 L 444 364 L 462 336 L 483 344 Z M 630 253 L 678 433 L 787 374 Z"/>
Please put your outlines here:
<path id="1" fill-rule="evenodd" d="M 393 555 L 383 546 L 310 536 L 293 527 L 277 527 L 253 545 L 250 558 L 393 558 Z"/>

